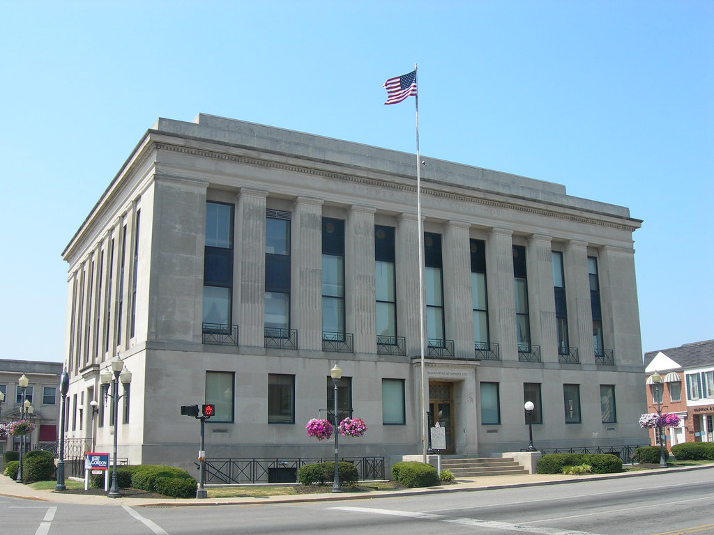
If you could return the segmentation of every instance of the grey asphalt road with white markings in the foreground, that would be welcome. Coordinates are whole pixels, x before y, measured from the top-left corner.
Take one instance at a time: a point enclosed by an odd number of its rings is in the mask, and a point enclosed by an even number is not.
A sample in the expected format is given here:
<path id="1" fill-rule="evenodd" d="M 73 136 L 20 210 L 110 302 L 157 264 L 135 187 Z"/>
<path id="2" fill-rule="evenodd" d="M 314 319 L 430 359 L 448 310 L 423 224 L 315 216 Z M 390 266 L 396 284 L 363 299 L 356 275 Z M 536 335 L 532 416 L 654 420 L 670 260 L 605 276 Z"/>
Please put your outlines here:
<path id="1" fill-rule="evenodd" d="M 79 506 L 0 497 L 12 535 L 714 535 L 714 470 L 301 504 Z"/>

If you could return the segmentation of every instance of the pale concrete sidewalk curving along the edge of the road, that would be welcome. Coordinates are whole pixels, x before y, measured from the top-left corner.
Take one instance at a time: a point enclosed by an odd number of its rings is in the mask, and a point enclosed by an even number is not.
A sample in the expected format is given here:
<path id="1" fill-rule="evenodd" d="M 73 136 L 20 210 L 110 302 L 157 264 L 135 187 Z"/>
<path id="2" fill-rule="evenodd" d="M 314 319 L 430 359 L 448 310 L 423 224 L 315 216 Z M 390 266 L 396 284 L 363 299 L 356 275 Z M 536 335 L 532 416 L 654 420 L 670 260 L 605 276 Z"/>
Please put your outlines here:
<path id="1" fill-rule="evenodd" d="M 588 474 L 585 476 L 564 476 L 562 474 L 518 474 L 511 476 L 486 476 L 469 479 L 458 479 L 454 484 L 433 486 L 421 489 L 402 489 L 393 491 L 366 491 L 325 494 L 296 494 L 292 496 L 257 496 L 242 498 L 208 498 L 208 499 L 176 499 L 176 498 L 108 498 L 107 496 L 87 496 L 85 494 L 69 494 L 66 492 L 38 491 L 29 486 L 17 483 L 7 476 L 0 475 L 0 496 L 24 498 L 39 501 L 49 501 L 61 504 L 81 505 L 128 505 L 132 507 L 182 507 L 206 505 L 245 505 L 245 504 L 278 504 L 300 503 L 306 501 L 360 500 L 377 499 L 394 496 L 413 496 L 416 494 L 436 494 L 439 492 L 483 491 L 488 489 L 504 489 L 516 486 L 537 486 L 573 481 L 593 481 L 596 479 L 618 479 L 622 477 L 642 477 L 661 472 L 679 472 L 686 470 L 711 469 L 714 464 L 696 467 L 673 467 L 668 469 L 645 470 L 642 472 L 623 472 L 620 474 Z M 210 487 L 208 487 L 210 488 Z"/>

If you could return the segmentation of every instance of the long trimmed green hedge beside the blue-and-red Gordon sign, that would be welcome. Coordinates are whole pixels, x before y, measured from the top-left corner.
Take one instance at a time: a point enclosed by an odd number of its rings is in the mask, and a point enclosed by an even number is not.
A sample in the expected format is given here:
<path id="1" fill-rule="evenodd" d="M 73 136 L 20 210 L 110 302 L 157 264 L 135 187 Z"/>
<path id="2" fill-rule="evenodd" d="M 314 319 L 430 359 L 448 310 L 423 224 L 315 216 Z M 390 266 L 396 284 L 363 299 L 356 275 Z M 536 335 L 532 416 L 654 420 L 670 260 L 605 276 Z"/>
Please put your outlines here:
<path id="1" fill-rule="evenodd" d="M 111 467 L 109 468 L 111 471 Z M 109 474 L 111 477 L 111 473 Z M 196 496 L 196 479 L 186 470 L 166 467 L 160 464 L 137 464 L 116 467 L 116 484 L 121 489 L 133 488 L 156 492 L 171 498 L 193 498 Z M 104 474 L 91 477 L 91 486 L 102 488 Z"/>

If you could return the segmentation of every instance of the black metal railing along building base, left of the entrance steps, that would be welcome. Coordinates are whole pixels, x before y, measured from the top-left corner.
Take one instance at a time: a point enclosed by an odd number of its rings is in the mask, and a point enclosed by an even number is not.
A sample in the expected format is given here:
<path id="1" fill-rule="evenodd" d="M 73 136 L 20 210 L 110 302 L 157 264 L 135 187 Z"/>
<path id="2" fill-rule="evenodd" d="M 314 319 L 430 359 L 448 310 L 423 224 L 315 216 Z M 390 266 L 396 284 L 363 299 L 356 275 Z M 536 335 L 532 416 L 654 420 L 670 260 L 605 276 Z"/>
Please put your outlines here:
<path id="1" fill-rule="evenodd" d="M 248 484 L 275 481 L 276 472 L 294 474 L 296 482 L 298 469 L 306 464 L 334 461 L 334 457 L 307 457 L 293 459 L 206 459 L 206 483 L 208 484 Z M 362 481 L 384 479 L 384 457 L 341 457 L 340 461 L 351 462 L 357 467 Z M 194 463 L 198 468 L 200 465 Z"/>

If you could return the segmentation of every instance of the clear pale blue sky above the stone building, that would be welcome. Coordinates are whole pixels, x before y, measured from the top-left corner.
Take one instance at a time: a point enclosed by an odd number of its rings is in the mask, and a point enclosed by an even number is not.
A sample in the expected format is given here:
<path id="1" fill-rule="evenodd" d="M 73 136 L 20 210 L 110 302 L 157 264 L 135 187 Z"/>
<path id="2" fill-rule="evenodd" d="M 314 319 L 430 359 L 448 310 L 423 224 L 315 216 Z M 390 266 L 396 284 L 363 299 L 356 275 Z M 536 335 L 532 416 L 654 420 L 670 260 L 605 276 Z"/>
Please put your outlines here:
<path id="1" fill-rule="evenodd" d="M 714 338 L 714 1 L 0 0 L 0 357 L 61 361 L 61 251 L 156 118 L 416 150 L 630 208 L 643 351 Z M 616 348 L 615 348 L 616 350 Z"/>

